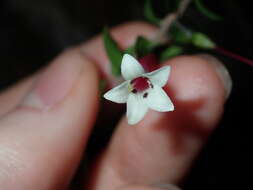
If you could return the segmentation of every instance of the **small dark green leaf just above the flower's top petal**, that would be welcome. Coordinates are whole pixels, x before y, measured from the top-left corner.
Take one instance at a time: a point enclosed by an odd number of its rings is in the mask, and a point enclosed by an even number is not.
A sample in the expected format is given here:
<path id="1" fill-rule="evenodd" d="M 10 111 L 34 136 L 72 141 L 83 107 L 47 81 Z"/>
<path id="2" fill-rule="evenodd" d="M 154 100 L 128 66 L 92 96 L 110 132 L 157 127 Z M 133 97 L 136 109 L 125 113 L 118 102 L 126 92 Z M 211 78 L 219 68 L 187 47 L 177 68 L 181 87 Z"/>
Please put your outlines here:
<path id="1" fill-rule="evenodd" d="M 143 57 L 151 53 L 156 46 L 156 43 L 139 36 L 135 42 L 135 54 L 137 57 Z"/>

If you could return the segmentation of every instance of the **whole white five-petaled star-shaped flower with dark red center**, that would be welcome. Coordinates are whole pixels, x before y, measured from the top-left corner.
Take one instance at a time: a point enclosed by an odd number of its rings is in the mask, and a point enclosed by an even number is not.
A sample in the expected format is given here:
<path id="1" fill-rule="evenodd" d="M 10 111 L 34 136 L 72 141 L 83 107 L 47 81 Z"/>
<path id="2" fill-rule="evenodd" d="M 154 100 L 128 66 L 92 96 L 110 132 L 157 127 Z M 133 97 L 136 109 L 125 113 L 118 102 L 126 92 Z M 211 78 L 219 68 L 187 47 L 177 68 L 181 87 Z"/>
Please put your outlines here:
<path id="1" fill-rule="evenodd" d="M 162 89 L 169 78 L 169 66 L 145 73 L 134 57 L 125 54 L 121 63 L 121 74 L 126 81 L 105 93 L 104 98 L 116 103 L 127 103 L 127 119 L 130 125 L 138 123 L 148 108 L 160 112 L 174 110 L 173 103 Z"/>

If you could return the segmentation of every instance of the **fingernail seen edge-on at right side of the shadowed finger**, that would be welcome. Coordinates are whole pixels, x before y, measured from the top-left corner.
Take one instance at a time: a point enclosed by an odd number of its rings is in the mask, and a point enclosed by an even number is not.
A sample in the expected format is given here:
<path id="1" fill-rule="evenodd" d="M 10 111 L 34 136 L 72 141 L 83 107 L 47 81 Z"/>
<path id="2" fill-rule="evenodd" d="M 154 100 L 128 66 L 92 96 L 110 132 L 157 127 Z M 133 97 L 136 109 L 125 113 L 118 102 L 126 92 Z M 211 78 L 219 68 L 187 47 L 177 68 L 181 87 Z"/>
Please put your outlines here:
<path id="1" fill-rule="evenodd" d="M 232 79 L 227 68 L 217 58 L 209 54 L 199 54 L 198 56 L 205 59 L 208 63 L 215 67 L 225 89 L 225 98 L 228 99 L 232 91 Z"/>

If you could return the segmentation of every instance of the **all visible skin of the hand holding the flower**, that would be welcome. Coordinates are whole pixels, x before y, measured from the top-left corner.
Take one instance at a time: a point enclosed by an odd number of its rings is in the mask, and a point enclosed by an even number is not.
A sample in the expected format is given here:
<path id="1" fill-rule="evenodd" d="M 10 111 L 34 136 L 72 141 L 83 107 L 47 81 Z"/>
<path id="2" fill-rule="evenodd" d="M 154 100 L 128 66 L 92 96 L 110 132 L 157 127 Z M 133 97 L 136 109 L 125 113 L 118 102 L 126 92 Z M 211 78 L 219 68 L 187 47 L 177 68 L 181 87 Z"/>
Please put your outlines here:
<path id="1" fill-rule="evenodd" d="M 112 34 L 125 48 L 156 30 L 134 22 Z M 99 77 L 116 84 L 108 63 L 97 36 L 0 94 L 1 189 L 68 189 L 96 121 Z M 124 116 L 80 189 L 159 190 L 165 187 L 155 184 L 178 184 L 186 175 L 222 116 L 226 90 L 207 59 L 180 56 L 163 64 L 172 67 L 165 90 L 176 110 L 149 111 L 134 127 Z"/>

